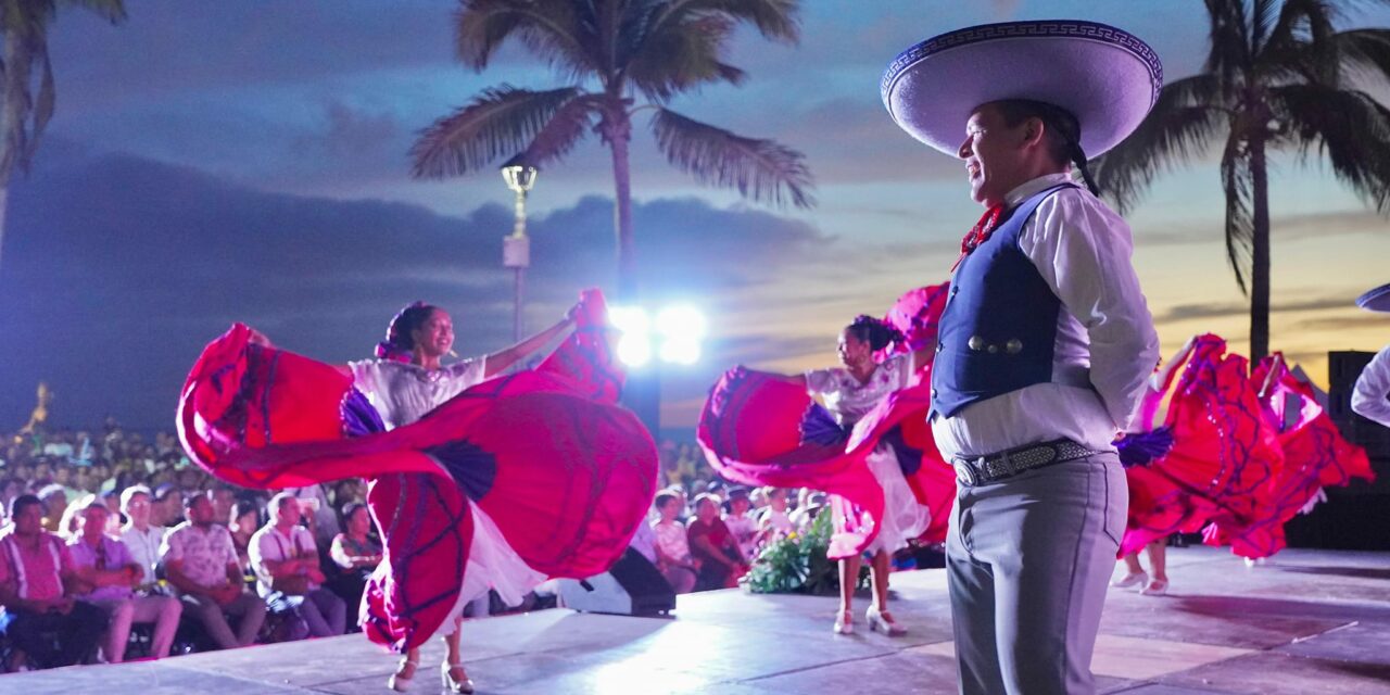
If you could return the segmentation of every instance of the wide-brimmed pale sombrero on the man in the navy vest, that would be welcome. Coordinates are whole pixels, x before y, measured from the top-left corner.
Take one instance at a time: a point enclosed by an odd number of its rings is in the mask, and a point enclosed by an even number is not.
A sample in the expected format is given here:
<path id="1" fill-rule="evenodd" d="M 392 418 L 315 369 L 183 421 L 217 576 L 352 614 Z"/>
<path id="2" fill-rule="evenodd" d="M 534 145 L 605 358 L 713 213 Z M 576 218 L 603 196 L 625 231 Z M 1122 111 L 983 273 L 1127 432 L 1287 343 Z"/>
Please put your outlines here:
<path id="1" fill-rule="evenodd" d="M 1148 114 L 1163 65 L 1129 32 L 1072 19 L 970 26 L 927 39 L 883 75 L 883 103 L 913 138 L 955 156 L 980 104 L 1027 99 L 1062 107 L 1095 157 Z"/>

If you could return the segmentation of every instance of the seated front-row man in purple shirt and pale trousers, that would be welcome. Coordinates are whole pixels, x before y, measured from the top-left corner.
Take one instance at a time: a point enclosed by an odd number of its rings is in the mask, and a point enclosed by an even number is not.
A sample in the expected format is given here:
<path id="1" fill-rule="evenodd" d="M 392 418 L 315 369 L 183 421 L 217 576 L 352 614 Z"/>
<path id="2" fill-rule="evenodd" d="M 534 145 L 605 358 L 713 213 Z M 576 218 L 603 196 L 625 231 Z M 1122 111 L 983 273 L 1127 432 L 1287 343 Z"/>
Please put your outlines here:
<path id="1" fill-rule="evenodd" d="M 111 512 L 95 502 L 81 514 L 81 535 L 68 542 L 72 553 L 72 595 L 106 612 L 110 619 L 103 645 L 106 660 L 125 660 L 133 623 L 153 623 L 150 656 L 163 659 L 174 645 L 174 631 L 183 606 L 172 596 L 136 596 L 132 591 L 145 575 L 125 543 L 106 535 Z"/>

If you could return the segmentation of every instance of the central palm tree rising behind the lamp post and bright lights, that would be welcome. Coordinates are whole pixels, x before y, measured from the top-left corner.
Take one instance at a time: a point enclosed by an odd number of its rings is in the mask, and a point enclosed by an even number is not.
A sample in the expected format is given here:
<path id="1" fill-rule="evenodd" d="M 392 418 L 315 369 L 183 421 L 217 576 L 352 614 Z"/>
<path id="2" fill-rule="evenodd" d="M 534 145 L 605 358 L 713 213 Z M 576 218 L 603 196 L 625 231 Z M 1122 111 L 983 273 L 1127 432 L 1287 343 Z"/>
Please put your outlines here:
<path id="1" fill-rule="evenodd" d="M 628 145 L 632 117 L 651 111 L 656 145 L 702 183 L 735 188 L 777 206 L 810 207 L 810 172 L 801 153 L 744 138 L 667 107 L 682 92 L 738 85 L 744 71 L 724 61 L 739 24 L 795 43 L 799 0 L 460 0 L 457 53 L 481 71 L 507 39 L 518 39 L 570 86 L 502 85 L 421 131 L 410 154 L 417 178 L 468 174 L 520 152 L 541 165 L 559 160 L 589 132 L 613 158 L 619 296 L 635 299 L 637 259 Z M 642 100 L 638 104 L 638 99 Z"/>

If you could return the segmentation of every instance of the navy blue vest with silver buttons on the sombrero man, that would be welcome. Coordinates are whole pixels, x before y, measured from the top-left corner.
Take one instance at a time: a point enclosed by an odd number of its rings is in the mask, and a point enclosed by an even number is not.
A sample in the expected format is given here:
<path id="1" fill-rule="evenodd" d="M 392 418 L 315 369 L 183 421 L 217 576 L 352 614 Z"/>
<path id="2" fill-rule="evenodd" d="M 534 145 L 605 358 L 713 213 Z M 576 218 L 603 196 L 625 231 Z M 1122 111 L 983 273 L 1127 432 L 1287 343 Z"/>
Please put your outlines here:
<path id="1" fill-rule="evenodd" d="M 1019 234 L 1061 183 L 1029 197 L 960 260 L 941 314 L 931 367 L 931 413 L 954 417 L 970 403 L 1052 381 L 1062 300 L 1019 249 Z"/>

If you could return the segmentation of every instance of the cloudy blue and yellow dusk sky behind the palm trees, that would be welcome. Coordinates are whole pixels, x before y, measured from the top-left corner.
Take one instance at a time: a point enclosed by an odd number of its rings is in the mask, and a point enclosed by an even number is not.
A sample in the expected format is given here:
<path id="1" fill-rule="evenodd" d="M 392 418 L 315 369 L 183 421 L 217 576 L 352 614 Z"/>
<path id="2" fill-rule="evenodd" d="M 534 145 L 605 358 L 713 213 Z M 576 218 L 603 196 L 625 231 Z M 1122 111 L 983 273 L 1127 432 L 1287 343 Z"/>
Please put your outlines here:
<path id="1" fill-rule="evenodd" d="M 482 74 L 463 68 L 455 7 L 129 0 L 120 26 L 60 13 L 57 114 L 33 177 L 13 189 L 0 264 L 0 420 L 22 423 L 35 384 L 49 379 L 60 423 L 111 411 L 168 427 L 185 370 L 232 321 L 342 361 L 366 356 L 400 304 L 428 299 L 455 313 L 460 353 L 503 346 L 510 193 L 486 172 L 413 181 L 407 152 L 421 128 L 484 88 L 562 78 L 514 46 Z M 1375 11 L 1355 21 L 1390 25 L 1390 13 Z M 1148 39 L 1177 78 L 1204 58 L 1201 15 L 1200 3 L 1131 0 L 806 1 L 799 46 L 741 32 L 731 63 L 748 81 L 673 107 L 803 152 L 820 204 L 769 210 L 699 188 L 638 117 L 644 288 L 713 317 L 702 364 L 667 375 L 673 423 L 689 425 L 723 368 L 827 364 L 848 318 L 945 279 L 980 211 L 959 161 L 884 114 L 878 79 L 898 51 L 970 24 L 1084 17 Z M 1272 186 L 1275 348 L 1316 361 L 1390 341 L 1390 325 L 1341 304 L 1390 281 L 1386 220 L 1293 157 L 1277 160 Z M 531 328 L 581 288 L 612 286 L 612 164 L 592 136 L 541 172 Z M 1225 261 L 1215 165 L 1165 172 L 1127 218 L 1165 352 L 1205 331 L 1243 350 L 1245 297 Z"/>

